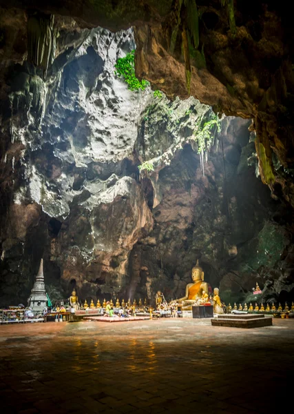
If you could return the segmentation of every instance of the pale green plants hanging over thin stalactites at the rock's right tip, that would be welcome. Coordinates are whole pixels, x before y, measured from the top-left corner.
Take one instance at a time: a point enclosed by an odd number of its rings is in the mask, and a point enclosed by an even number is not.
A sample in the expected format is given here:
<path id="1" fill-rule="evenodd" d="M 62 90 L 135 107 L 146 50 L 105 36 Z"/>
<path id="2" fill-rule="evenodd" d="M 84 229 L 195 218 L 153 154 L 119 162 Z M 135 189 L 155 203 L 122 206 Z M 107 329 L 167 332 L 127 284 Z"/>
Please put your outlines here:
<path id="1" fill-rule="evenodd" d="M 202 125 L 203 119 L 196 124 L 196 131 L 194 132 L 195 141 L 198 146 L 198 154 L 209 150 L 213 143 L 213 138 L 216 132 L 220 132 L 220 119 L 218 115 L 212 114 L 209 121 Z"/>

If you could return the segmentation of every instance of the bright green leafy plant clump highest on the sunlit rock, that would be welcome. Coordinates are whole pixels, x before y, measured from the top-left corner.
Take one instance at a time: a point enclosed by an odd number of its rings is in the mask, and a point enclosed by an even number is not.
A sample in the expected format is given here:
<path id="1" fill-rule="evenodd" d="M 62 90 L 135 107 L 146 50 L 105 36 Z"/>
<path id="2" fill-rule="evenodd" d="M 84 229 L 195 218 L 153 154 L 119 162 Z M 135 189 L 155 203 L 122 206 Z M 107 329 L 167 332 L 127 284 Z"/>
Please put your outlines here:
<path id="1" fill-rule="evenodd" d="M 118 58 L 114 67 L 116 68 L 115 74 L 118 77 L 123 77 L 129 90 L 145 90 L 149 85 L 148 81 L 145 79 L 139 81 L 135 75 L 135 50 L 129 52 L 125 57 Z"/>

